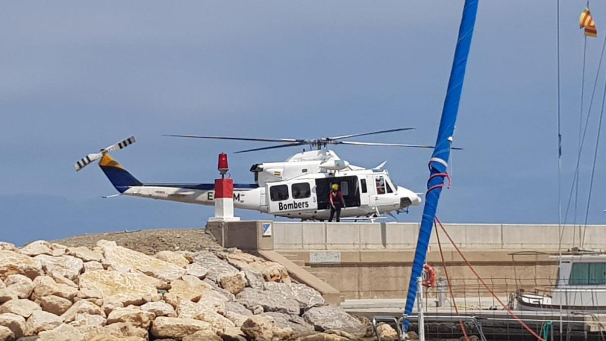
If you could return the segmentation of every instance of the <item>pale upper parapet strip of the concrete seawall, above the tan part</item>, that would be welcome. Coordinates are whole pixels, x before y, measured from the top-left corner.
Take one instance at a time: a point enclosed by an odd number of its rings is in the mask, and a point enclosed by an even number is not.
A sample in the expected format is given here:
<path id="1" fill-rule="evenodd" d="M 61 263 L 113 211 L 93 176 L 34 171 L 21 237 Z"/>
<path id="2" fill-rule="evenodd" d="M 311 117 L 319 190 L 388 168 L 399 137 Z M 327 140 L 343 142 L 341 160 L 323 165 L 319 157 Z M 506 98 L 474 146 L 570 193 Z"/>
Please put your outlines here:
<path id="1" fill-rule="evenodd" d="M 445 224 L 448 234 L 464 249 L 557 250 L 558 225 Z M 579 246 L 583 227 L 564 228 L 562 248 Z M 606 248 L 606 225 L 589 225 L 584 248 Z M 415 249 L 418 223 L 273 223 L 274 248 L 279 250 Z M 452 249 L 446 238 L 442 248 Z M 446 242 L 444 242 L 446 241 Z M 430 249 L 438 247 L 431 235 Z"/>

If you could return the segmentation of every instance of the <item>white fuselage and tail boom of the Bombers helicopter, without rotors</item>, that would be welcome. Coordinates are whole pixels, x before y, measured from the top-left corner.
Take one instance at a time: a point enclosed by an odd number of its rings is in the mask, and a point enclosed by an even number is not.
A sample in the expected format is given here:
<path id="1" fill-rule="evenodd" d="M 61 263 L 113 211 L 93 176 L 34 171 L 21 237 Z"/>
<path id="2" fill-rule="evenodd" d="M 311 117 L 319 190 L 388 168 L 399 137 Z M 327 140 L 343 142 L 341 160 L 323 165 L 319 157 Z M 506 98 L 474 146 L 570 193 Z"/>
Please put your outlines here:
<path id="1" fill-rule="evenodd" d="M 330 215 L 328 194 L 339 184 L 345 200 L 342 217 L 370 217 L 417 206 L 415 192 L 391 183 L 387 170 L 347 170 L 304 174 L 281 181 L 265 181 L 258 187 L 234 187 L 234 208 L 259 211 L 279 217 L 325 220 Z M 179 201 L 213 206 L 214 189 L 175 184 L 132 186 L 122 193 L 135 197 Z"/>

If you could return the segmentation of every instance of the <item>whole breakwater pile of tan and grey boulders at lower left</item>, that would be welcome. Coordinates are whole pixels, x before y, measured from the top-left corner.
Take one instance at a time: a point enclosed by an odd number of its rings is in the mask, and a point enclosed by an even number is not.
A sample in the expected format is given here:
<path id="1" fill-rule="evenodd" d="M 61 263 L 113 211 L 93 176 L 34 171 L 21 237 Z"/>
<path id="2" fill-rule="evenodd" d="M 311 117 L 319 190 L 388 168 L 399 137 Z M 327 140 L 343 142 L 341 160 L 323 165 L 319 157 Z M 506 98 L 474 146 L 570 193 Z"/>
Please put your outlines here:
<path id="1" fill-rule="evenodd" d="M 356 340 L 367 325 L 236 249 L 0 243 L 0 341 Z"/>

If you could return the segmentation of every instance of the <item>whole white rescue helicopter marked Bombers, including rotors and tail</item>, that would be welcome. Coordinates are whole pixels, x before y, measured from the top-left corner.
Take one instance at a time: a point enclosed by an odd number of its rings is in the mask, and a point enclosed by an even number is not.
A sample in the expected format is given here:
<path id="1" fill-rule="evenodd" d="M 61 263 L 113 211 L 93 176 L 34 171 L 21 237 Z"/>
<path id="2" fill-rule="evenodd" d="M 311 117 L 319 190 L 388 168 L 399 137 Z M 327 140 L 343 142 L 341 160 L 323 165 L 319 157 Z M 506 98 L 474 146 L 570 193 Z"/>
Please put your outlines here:
<path id="1" fill-rule="evenodd" d="M 382 214 L 395 218 L 394 212 L 407 212 L 409 206 L 421 204 L 420 194 L 393 184 L 387 170 L 383 169 L 386 162 L 372 169 L 366 169 L 342 160 L 333 150 L 327 149 L 328 145 L 336 144 L 433 148 L 433 146 L 416 144 L 344 141 L 344 139 L 352 137 L 412 129 L 388 129 L 313 140 L 201 135 L 164 136 L 279 143 L 239 150 L 236 154 L 282 147 L 315 147 L 315 149 L 292 155 L 283 162 L 253 164 L 250 171 L 254 174 L 255 183 L 235 183 L 233 201 L 234 208 L 237 209 L 258 211 L 276 217 L 324 221 L 330 214 L 328 197 L 333 184 L 339 185 L 344 197 L 345 208 L 341 211 L 342 218 L 377 218 Z M 109 154 L 133 143 L 135 143 L 134 136 L 105 147 L 98 153 L 88 154 L 76 162 L 75 170 L 78 172 L 93 161 L 99 160 L 99 167 L 119 192 L 119 194 L 108 197 L 130 195 L 214 206 L 214 183 L 144 183 L 133 177 Z"/>

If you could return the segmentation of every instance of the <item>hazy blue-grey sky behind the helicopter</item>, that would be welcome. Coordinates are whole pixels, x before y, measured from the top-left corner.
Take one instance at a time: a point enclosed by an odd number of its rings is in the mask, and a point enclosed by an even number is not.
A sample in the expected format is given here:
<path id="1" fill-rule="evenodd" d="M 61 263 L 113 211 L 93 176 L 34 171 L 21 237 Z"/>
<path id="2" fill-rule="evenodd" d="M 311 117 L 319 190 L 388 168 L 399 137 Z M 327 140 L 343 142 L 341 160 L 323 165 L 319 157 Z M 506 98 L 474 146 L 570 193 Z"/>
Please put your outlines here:
<path id="1" fill-rule="evenodd" d="M 139 180 L 212 182 L 219 152 L 263 144 L 162 134 L 320 138 L 396 127 L 359 141 L 433 144 L 462 0 L 6 2 L 0 12 L 0 240 L 205 225 L 213 208 L 115 193 L 76 160 L 123 138 L 113 154 Z M 561 2 L 562 173 L 558 181 L 556 7 L 480 1 L 450 172 L 438 215 L 451 223 L 558 223 L 579 143 L 585 1 Z M 585 110 L 606 35 L 591 4 Z M 581 159 L 584 221 L 601 72 Z M 605 223 L 603 138 L 588 211 Z M 430 150 L 338 146 L 350 163 L 387 160 L 396 184 L 424 192 Z M 231 175 L 298 149 L 230 154 Z M 574 220 L 571 206 L 568 222 Z M 422 207 L 398 215 L 420 221 Z M 236 210 L 242 218 L 271 218 Z M 564 213 L 562 213 L 562 216 Z"/>

